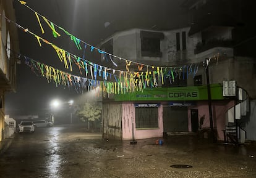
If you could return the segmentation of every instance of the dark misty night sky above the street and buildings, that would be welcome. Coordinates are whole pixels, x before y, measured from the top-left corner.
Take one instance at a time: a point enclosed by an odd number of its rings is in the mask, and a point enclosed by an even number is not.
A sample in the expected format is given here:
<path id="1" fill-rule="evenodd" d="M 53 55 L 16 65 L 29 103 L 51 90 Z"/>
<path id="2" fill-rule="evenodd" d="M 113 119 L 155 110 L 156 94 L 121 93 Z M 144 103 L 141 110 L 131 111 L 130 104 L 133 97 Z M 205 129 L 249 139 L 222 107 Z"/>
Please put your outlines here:
<path id="1" fill-rule="evenodd" d="M 130 28 L 168 30 L 187 26 L 187 14 L 180 6 L 182 3 L 180 0 L 29 0 L 26 2 L 27 6 L 36 12 L 92 46 L 96 46 L 116 31 Z M 19 25 L 66 51 L 82 56 L 83 51 L 77 51 L 74 42 L 70 41 L 68 36 L 62 35 L 61 38 L 56 39 L 47 26 L 44 26 L 46 33 L 41 34 L 40 25 L 32 10 L 20 5 L 17 0 L 14 0 L 14 8 Z M 18 33 L 20 54 L 65 71 L 63 63 L 52 47 L 46 44 L 40 47 L 34 36 L 19 29 Z M 88 60 L 93 62 L 99 60 L 91 58 L 90 54 L 87 56 Z M 17 64 L 16 92 L 6 94 L 6 115 L 44 116 L 49 110 L 51 100 L 79 97 L 82 95 L 73 88 L 56 87 L 54 83 L 48 83 L 46 78 L 36 76 L 24 64 L 21 57 L 21 64 Z"/>

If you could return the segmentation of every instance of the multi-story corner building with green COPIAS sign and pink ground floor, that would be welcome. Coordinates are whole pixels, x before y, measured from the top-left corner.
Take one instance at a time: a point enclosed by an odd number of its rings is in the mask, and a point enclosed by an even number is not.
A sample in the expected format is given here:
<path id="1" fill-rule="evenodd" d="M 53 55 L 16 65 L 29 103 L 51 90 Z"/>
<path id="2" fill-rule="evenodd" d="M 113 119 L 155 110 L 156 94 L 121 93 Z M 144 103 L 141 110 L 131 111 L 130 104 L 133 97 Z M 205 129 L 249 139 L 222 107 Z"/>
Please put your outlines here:
<path id="1" fill-rule="evenodd" d="M 244 142 L 245 135 L 255 140 L 256 123 L 250 119 L 255 113 L 247 99 L 256 97 L 256 63 L 245 46 L 255 47 L 250 46 L 253 36 L 246 39 L 248 34 L 242 33 L 250 24 L 242 24 L 247 22 L 247 6 L 241 3 L 185 1 L 182 6 L 191 17 L 187 27 L 130 29 L 103 41 L 100 48 L 110 54 L 144 66 L 171 67 L 174 73 L 158 78 L 157 85 L 143 92 L 103 99 L 103 136 L 143 139 L 198 131 L 205 136 L 210 130 L 218 140 Z"/>

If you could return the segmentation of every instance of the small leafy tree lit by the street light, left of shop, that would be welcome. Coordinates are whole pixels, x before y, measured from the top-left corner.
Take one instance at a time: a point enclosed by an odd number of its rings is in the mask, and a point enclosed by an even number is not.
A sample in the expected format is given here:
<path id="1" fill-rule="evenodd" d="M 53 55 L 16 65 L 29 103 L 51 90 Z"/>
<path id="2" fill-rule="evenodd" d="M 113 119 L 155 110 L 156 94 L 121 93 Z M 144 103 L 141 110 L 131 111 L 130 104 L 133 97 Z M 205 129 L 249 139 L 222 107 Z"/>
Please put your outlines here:
<path id="1" fill-rule="evenodd" d="M 101 105 L 96 102 L 85 102 L 82 105 L 79 105 L 79 108 L 76 111 L 77 116 L 83 122 L 88 122 L 88 129 L 90 129 L 90 123 L 100 124 L 101 121 Z"/>

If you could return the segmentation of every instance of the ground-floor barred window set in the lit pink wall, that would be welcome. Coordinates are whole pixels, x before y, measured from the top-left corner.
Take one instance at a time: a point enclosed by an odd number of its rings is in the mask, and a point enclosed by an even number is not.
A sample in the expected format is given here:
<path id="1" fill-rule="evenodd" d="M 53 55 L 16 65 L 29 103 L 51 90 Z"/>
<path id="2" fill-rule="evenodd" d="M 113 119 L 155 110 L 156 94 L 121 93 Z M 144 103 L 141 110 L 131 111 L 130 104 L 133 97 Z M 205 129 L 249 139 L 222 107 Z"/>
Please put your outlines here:
<path id="1" fill-rule="evenodd" d="M 158 128 L 158 108 L 157 107 L 136 107 L 135 123 L 137 129 Z"/>

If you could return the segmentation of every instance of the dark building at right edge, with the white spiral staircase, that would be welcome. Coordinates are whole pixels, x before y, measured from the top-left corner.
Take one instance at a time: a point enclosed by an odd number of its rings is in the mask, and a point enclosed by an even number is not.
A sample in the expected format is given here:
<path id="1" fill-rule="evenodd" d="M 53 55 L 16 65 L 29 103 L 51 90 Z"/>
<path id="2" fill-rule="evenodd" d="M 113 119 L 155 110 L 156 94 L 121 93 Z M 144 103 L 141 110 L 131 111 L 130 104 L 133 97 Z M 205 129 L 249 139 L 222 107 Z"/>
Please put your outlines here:
<path id="1" fill-rule="evenodd" d="M 256 123 L 252 119 L 256 98 L 256 25 L 250 14 L 253 4 L 253 1 L 239 0 L 188 0 L 183 4 L 189 9 L 189 36 L 200 38 L 195 54 L 212 56 L 211 53 L 217 50 L 226 55 L 225 59 L 218 60 L 218 65 L 209 67 L 210 82 L 233 80 L 236 81 L 236 89 L 240 87 L 240 91 L 246 91 L 244 96 L 236 94 L 236 105 L 226 113 L 226 136 L 231 137 L 229 132 L 236 132 L 237 140 L 242 140 L 244 134 L 249 140 L 256 139 Z"/>

